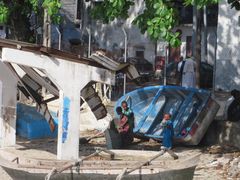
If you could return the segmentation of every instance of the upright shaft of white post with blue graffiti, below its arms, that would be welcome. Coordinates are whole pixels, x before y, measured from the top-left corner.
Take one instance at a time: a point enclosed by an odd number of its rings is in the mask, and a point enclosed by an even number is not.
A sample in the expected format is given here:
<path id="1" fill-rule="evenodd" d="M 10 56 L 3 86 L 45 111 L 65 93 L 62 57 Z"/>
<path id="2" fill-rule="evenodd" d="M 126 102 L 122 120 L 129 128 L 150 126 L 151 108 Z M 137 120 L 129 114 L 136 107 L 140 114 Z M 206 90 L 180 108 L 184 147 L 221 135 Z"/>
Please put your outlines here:
<path id="1" fill-rule="evenodd" d="M 80 91 L 60 91 L 58 121 L 58 159 L 79 157 Z"/>

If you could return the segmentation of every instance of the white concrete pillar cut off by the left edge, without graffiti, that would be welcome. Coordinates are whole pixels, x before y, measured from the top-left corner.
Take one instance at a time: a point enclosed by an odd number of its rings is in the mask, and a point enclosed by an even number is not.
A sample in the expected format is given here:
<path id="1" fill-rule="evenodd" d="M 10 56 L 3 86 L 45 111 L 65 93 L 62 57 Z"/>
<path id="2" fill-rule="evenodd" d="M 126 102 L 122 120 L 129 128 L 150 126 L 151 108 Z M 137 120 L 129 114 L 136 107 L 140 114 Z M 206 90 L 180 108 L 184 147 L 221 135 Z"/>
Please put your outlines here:
<path id="1" fill-rule="evenodd" d="M 17 80 L 0 61 L 0 147 L 16 142 Z"/>

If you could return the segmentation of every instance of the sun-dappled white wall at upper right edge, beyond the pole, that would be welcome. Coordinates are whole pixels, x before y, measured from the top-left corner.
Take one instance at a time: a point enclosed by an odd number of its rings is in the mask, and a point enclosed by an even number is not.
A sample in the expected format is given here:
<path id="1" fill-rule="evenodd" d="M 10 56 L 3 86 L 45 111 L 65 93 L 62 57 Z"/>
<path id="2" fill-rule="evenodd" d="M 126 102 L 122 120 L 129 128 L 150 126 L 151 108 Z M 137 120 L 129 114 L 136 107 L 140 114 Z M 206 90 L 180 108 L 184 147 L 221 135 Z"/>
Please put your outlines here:
<path id="1" fill-rule="evenodd" d="M 227 0 L 219 3 L 216 89 L 240 89 L 239 16 L 240 12 L 231 9 Z"/>

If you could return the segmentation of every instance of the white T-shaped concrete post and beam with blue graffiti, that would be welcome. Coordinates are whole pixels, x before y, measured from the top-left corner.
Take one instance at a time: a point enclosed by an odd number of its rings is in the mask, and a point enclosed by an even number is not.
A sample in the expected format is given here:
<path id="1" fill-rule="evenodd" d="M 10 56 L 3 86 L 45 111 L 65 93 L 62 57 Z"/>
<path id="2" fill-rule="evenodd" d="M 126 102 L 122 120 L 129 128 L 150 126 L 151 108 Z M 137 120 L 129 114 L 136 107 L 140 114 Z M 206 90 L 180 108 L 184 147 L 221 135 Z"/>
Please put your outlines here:
<path id="1" fill-rule="evenodd" d="M 80 92 L 90 81 L 114 85 L 115 73 L 83 63 L 11 48 L 2 49 L 2 61 L 41 69 L 58 86 L 60 108 L 57 157 L 78 159 Z"/>

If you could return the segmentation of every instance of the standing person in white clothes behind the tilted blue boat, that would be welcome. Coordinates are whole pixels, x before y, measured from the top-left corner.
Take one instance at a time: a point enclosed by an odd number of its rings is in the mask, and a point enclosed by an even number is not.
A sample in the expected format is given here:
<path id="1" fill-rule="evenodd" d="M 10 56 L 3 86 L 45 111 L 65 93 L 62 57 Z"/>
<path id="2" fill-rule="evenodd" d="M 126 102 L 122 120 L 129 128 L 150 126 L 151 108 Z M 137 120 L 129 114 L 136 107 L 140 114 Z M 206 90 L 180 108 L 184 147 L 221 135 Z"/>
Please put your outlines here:
<path id="1" fill-rule="evenodd" d="M 183 67 L 181 67 L 183 66 Z M 180 63 L 178 70 L 182 69 L 182 86 L 183 87 L 196 87 L 196 62 L 188 57 L 185 63 Z"/>

